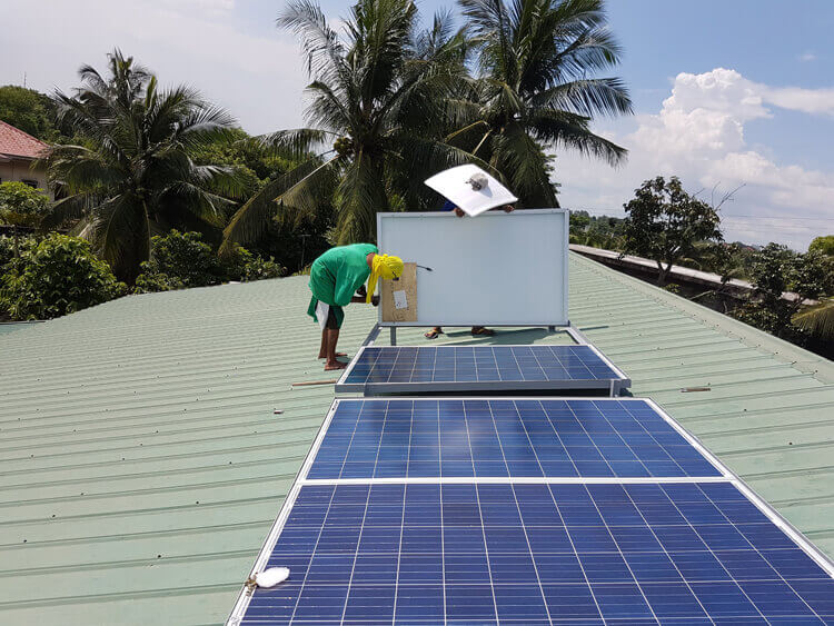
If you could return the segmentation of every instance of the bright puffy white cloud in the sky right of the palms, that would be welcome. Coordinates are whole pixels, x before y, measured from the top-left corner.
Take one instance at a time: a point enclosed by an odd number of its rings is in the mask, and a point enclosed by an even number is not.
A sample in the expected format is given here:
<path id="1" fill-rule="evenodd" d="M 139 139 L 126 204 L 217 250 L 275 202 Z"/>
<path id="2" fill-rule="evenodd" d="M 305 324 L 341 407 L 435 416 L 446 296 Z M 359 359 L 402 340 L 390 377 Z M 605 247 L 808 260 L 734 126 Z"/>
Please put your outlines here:
<path id="1" fill-rule="evenodd" d="M 556 170 L 563 205 L 622 212 L 634 189 L 658 175 L 677 175 L 691 190 L 707 193 L 744 185 L 723 208 L 727 238 L 805 249 L 815 236 L 834 231 L 834 172 L 776 162 L 747 146 L 744 126 L 771 118 L 767 105 L 832 113 L 832 96 L 827 89 L 770 88 L 723 68 L 679 73 L 659 113 L 637 116 L 632 132 L 602 131 L 629 149 L 626 166 L 612 170 L 563 153 Z"/>

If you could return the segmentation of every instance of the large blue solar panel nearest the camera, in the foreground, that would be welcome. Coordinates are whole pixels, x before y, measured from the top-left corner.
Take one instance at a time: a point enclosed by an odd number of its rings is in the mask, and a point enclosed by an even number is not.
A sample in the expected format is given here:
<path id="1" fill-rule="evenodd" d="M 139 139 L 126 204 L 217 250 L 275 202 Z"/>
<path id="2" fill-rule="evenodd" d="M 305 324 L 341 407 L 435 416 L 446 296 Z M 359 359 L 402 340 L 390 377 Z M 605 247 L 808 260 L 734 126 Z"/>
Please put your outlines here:
<path id="1" fill-rule="evenodd" d="M 304 486 L 244 623 L 831 624 L 834 580 L 729 483 Z"/>

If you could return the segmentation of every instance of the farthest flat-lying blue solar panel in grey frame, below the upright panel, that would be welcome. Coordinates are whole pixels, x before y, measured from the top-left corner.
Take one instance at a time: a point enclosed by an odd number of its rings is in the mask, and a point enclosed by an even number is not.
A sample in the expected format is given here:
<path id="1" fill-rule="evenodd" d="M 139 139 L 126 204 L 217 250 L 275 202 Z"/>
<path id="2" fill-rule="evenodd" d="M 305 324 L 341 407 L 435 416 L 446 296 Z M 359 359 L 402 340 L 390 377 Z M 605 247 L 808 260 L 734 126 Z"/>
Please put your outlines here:
<path id="1" fill-rule="evenodd" d="M 599 350 L 572 346 L 366 346 L 336 384 L 338 393 L 606 389 L 631 380 Z"/>

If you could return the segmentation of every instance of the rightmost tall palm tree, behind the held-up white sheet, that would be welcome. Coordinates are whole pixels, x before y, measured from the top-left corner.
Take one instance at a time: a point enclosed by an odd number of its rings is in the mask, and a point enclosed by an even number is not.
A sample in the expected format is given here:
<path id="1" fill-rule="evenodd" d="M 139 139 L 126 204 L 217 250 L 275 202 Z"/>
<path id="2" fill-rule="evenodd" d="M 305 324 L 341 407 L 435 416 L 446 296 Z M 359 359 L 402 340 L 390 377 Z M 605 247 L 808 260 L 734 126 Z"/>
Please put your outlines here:
<path id="1" fill-rule="evenodd" d="M 615 66 L 619 47 L 603 0 L 458 0 L 479 77 L 456 102 L 448 141 L 503 173 L 526 206 L 557 206 L 545 150 L 560 146 L 610 165 L 626 150 L 594 135 L 595 116 L 632 112 Z"/>

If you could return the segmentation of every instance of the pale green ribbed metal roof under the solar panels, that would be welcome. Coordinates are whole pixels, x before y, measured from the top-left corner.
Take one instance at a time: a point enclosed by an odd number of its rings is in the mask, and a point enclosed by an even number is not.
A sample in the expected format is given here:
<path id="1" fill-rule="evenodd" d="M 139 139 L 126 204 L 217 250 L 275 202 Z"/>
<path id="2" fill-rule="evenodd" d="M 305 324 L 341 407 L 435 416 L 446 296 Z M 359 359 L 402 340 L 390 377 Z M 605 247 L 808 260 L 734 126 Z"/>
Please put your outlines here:
<path id="1" fill-rule="evenodd" d="M 226 619 L 332 399 L 290 387 L 331 378 L 306 282 L 131 296 L 0 336 L 0 623 Z M 832 361 L 576 255 L 570 298 L 635 396 L 834 555 Z M 340 345 L 375 312 L 351 307 Z"/>

